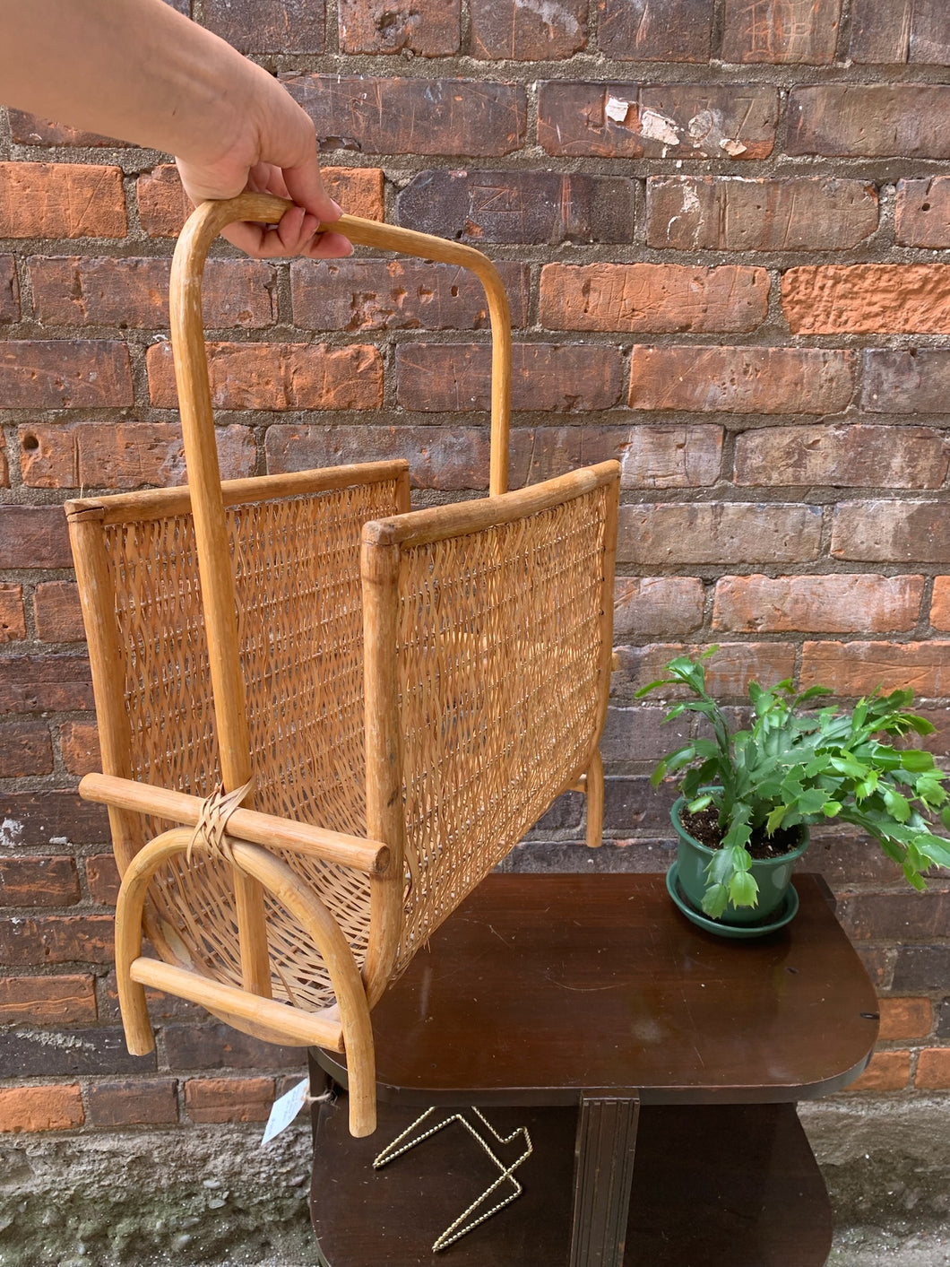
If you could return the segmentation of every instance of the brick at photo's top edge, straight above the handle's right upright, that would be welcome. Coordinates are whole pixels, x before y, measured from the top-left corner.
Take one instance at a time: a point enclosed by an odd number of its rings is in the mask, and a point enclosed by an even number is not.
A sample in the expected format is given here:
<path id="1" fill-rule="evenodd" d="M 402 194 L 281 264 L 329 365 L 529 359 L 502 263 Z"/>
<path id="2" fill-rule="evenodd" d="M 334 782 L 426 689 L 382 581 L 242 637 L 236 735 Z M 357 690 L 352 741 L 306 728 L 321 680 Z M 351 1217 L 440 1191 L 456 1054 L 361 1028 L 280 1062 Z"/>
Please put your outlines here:
<path id="1" fill-rule="evenodd" d="M 469 0 L 469 10 L 471 54 L 483 61 L 548 62 L 586 46 L 586 0 L 560 0 L 547 6 L 522 0 Z"/>

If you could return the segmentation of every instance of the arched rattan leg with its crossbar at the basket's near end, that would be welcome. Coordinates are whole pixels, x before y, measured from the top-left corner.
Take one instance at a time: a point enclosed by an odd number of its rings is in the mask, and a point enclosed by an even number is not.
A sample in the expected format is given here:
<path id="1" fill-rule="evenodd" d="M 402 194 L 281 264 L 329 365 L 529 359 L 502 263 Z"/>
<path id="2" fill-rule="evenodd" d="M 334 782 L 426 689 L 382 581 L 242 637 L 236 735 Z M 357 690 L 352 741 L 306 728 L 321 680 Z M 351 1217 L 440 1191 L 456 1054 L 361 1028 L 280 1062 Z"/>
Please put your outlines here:
<path id="1" fill-rule="evenodd" d="M 312 938 L 327 965 L 337 996 L 338 1024 L 328 1024 L 318 1014 L 274 1002 L 247 990 L 205 978 L 200 973 L 142 958 L 142 915 L 148 883 L 163 863 L 189 848 L 191 836 L 191 831 L 185 827 L 175 827 L 157 836 L 136 855 L 122 882 L 115 919 L 115 967 L 129 1052 L 143 1055 L 155 1047 L 146 1007 L 146 983 L 179 997 L 191 998 L 210 1010 L 255 1020 L 271 1030 L 275 1038 L 284 1038 L 290 1043 L 338 1047 L 334 1039 L 342 1035 L 351 1078 L 350 1130 L 353 1135 L 372 1134 L 376 1129 L 375 1052 L 370 1009 L 360 972 L 339 925 L 285 862 L 257 845 L 227 837 L 236 868 L 267 889 Z M 203 848 L 201 841 L 195 841 L 194 848 Z M 149 967 L 152 963 L 155 971 Z"/>

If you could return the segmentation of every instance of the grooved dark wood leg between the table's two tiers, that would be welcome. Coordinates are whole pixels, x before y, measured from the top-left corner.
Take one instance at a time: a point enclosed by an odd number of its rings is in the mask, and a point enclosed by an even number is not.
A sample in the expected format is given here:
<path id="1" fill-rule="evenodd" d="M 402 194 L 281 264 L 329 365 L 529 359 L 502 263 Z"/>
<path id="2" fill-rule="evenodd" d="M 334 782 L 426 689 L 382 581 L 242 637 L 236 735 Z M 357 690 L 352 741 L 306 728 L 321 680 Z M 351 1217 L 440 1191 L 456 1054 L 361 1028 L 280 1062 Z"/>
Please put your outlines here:
<path id="1" fill-rule="evenodd" d="M 570 1267 L 623 1267 L 638 1116 L 633 1093 L 580 1101 Z"/>

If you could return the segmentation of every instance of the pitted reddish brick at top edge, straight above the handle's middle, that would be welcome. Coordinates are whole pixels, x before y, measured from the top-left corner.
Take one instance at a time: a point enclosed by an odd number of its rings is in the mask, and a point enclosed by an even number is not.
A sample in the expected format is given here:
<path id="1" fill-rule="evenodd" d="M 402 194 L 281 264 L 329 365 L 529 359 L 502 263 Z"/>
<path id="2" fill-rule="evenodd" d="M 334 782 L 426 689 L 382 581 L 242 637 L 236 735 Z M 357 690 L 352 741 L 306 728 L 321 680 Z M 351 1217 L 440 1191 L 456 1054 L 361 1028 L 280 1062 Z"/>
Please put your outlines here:
<path id="1" fill-rule="evenodd" d="M 343 53 L 400 53 L 451 57 L 459 52 L 459 0 L 339 0 Z"/>

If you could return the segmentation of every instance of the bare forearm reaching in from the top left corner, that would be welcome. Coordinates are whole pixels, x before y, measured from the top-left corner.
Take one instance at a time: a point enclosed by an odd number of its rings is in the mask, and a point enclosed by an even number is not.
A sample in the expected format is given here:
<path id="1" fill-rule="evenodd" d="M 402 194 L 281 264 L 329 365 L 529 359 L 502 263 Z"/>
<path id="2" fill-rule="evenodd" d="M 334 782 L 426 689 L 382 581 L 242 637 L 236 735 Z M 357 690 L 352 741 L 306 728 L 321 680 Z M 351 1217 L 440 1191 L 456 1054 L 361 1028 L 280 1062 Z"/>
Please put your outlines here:
<path id="1" fill-rule="evenodd" d="M 187 162 L 238 143 L 266 76 L 163 0 L 0 0 L 0 101 Z"/>

